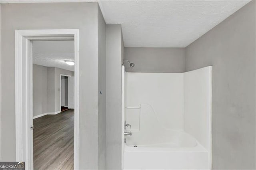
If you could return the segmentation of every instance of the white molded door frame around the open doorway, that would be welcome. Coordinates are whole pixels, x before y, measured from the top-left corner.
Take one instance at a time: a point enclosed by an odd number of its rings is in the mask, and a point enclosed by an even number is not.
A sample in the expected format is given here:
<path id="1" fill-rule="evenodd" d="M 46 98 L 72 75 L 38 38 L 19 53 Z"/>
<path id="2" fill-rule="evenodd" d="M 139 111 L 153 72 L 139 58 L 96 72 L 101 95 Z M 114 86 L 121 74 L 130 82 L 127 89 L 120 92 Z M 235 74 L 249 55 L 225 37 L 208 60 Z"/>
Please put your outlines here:
<path id="1" fill-rule="evenodd" d="M 16 161 L 33 169 L 33 77 L 30 40 L 74 40 L 74 169 L 79 169 L 79 30 L 15 30 Z"/>

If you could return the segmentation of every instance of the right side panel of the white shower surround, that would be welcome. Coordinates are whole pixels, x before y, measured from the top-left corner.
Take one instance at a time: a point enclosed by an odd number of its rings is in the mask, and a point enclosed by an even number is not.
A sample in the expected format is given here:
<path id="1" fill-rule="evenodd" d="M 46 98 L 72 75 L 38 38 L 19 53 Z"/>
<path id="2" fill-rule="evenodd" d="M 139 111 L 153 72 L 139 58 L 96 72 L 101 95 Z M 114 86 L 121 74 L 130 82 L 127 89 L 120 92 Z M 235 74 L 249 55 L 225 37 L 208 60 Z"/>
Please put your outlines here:
<path id="1" fill-rule="evenodd" d="M 211 148 L 212 67 L 184 73 L 184 130 Z"/>

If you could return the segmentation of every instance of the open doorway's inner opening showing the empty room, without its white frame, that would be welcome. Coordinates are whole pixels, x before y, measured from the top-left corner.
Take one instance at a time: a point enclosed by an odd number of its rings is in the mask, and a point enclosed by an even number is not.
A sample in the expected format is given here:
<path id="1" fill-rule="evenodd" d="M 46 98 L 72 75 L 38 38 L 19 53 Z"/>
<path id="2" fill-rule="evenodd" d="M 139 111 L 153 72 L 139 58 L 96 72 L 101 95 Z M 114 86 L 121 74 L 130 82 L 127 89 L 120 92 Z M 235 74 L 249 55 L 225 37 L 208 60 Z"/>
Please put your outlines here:
<path id="1" fill-rule="evenodd" d="M 31 43 L 34 169 L 74 169 L 74 40 Z"/>

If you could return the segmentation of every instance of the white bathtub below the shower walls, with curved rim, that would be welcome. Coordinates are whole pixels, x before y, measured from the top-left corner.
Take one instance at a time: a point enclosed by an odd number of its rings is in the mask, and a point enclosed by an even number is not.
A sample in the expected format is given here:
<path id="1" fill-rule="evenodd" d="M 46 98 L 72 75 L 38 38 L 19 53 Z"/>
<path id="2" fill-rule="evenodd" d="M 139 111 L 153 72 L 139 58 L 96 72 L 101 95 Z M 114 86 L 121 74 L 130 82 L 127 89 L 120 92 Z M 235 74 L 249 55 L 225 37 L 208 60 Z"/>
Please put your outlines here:
<path id="1" fill-rule="evenodd" d="M 125 138 L 124 170 L 210 169 L 209 152 L 184 131 L 132 131 Z"/>

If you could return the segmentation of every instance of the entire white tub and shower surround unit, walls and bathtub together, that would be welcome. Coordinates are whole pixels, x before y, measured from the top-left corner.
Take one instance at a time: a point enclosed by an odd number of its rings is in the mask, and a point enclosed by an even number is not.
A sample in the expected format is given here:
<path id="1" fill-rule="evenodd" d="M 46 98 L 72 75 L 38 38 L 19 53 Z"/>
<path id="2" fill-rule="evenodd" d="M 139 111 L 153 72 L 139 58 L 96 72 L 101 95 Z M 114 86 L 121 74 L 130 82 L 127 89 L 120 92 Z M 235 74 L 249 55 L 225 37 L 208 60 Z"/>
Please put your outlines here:
<path id="1" fill-rule="evenodd" d="M 122 77 L 123 169 L 211 169 L 212 67 Z"/>

